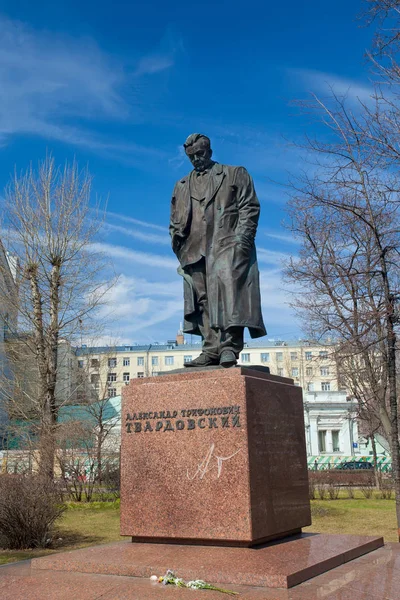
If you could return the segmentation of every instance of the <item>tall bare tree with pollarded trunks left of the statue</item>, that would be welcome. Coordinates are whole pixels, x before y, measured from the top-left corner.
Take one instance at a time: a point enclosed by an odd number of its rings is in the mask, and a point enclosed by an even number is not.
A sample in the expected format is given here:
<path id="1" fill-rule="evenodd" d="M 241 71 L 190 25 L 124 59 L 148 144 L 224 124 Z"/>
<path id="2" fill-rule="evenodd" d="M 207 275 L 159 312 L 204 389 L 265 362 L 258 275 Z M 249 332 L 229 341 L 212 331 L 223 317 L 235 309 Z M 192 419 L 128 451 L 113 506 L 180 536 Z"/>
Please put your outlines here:
<path id="1" fill-rule="evenodd" d="M 49 478 L 59 406 L 74 400 L 74 386 L 67 385 L 72 357 L 62 344 L 95 327 L 96 309 L 113 284 L 105 281 L 104 257 L 94 251 L 104 209 L 91 199 L 91 183 L 76 163 L 56 168 L 47 158 L 37 171 L 15 174 L 5 193 L 8 250 L 19 281 L 19 329 L 9 335 L 17 360 L 8 395 L 14 414 L 37 426 L 40 470 Z"/>

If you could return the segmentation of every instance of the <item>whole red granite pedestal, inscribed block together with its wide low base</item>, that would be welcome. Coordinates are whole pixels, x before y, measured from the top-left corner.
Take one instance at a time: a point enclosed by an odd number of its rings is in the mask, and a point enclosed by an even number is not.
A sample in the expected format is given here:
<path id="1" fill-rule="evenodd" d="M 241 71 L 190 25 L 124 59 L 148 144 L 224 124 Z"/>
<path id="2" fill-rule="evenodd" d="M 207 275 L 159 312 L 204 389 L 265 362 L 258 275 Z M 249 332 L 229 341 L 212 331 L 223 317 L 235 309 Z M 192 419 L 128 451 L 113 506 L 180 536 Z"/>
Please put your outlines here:
<path id="1" fill-rule="evenodd" d="M 392 560 L 379 549 L 381 537 L 294 535 L 311 519 L 303 404 L 292 380 L 243 367 L 134 380 L 124 390 L 122 427 L 121 533 L 136 543 L 35 559 L 34 583 L 41 572 L 52 582 L 53 571 L 71 583 L 74 572 L 109 578 L 110 598 L 169 597 L 143 578 L 172 569 L 185 580 L 235 586 L 249 599 L 377 597 L 356 587 L 356 568 L 346 563 L 369 555 L 362 586 L 367 572 Z M 116 575 L 134 582 L 119 585 Z M 314 584 L 318 576 L 325 587 Z M 298 591 L 288 591 L 293 586 Z M 125 588 L 126 596 L 114 592 Z M 190 594 L 174 589 L 171 597 Z"/>

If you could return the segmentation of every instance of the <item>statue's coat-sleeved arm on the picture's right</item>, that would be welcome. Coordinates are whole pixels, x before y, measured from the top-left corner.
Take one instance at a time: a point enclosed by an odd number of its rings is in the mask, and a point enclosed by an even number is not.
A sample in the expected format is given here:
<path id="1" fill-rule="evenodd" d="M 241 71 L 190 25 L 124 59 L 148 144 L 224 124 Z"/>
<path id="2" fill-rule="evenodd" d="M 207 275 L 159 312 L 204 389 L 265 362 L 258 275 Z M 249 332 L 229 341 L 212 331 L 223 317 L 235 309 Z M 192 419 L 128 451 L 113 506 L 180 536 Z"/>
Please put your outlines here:
<path id="1" fill-rule="evenodd" d="M 237 188 L 239 210 L 236 234 L 239 244 L 250 250 L 254 245 L 256 236 L 260 203 L 254 189 L 253 180 L 244 167 L 238 167 L 236 170 L 235 186 Z"/>

